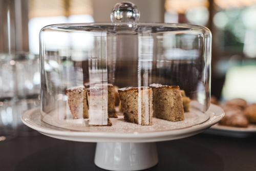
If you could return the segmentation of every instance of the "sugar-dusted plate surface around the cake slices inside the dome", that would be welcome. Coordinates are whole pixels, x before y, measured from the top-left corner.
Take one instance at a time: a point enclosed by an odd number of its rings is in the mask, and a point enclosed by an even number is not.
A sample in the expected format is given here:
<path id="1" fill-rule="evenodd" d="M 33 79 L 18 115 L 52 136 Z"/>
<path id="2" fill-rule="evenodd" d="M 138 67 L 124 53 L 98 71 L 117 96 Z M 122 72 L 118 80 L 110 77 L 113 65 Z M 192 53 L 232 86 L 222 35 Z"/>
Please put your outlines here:
<path id="1" fill-rule="evenodd" d="M 51 125 L 75 131 L 131 134 L 183 129 L 185 127 L 203 123 L 209 119 L 209 113 L 204 114 L 197 108 L 192 108 L 190 112 L 184 113 L 185 119 L 183 121 L 172 122 L 153 118 L 152 125 L 138 125 L 135 123 L 129 123 L 123 120 L 122 113 L 118 114 L 118 118 L 110 118 L 113 123 L 112 126 L 92 126 L 88 124 L 88 119 L 60 120 L 58 119 L 58 116 L 56 116 L 56 113 L 46 114 L 42 117 L 42 120 Z"/>

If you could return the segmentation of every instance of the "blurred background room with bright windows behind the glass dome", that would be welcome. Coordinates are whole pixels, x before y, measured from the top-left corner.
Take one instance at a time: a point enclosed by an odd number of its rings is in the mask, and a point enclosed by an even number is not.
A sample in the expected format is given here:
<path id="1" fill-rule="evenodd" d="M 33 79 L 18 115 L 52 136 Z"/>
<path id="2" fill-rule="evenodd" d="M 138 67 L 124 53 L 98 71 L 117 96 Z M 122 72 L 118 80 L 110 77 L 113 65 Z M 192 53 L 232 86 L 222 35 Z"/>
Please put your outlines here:
<path id="1" fill-rule="evenodd" d="M 118 2 L 121 1 L 0 0 L 0 122 L 15 127 L 20 121 L 13 122 L 14 115 L 9 117 L 13 111 L 21 113 L 38 105 L 35 99 L 40 90 L 40 29 L 60 23 L 110 22 L 111 9 Z M 211 94 L 220 100 L 243 98 L 256 102 L 256 0 L 131 2 L 140 9 L 140 22 L 188 23 L 209 28 Z M 87 42 L 79 41 L 77 44 Z M 21 102 L 24 99 L 30 103 Z M 13 103 L 18 107 L 11 107 Z"/>

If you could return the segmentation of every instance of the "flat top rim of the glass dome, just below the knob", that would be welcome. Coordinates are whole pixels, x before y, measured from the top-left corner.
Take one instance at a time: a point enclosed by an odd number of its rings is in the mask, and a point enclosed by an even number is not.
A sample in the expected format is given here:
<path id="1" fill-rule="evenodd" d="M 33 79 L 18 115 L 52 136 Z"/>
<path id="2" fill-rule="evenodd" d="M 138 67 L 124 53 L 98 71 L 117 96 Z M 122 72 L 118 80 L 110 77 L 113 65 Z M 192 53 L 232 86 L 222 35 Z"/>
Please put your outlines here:
<path id="1" fill-rule="evenodd" d="M 188 28 L 190 29 L 189 31 L 198 31 L 202 33 L 208 33 L 211 34 L 211 31 L 205 27 L 205 26 L 200 26 L 200 25 L 193 25 L 193 24 L 183 24 L 183 23 L 110 23 L 110 22 L 96 22 L 96 23 L 62 23 L 62 24 L 52 24 L 52 25 L 47 25 L 43 27 L 40 30 L 40 33 L 45 31 L 46 29 L 50 30 L 55 30 L 55 31 L 67 31 L 67 29 L 61 29 L 57 27 L 71 27 L 71 26 L 84 26 L 84 27 L 93 27 L 93 26 L 116 26 L 116 27 L 122 27 L 125 26 L 127 28 L 131 27 L 136 27 L 136 26 L 141 26 L 141 27 L 165 27 L 165 28 Z M 102 29 L 103 30 L 103 29 Z M 69 30 L 69 31 L 74 31 L 74 30 Z M 182 31 L 187 31 L 187 30 L 180 30 Z M 160 32 L 160 31 L 159 31 Z M 172 32 L 172 31 L 166 31 L 166 32 Z M 156 32 L 157 33 L 157 32 Z"/>

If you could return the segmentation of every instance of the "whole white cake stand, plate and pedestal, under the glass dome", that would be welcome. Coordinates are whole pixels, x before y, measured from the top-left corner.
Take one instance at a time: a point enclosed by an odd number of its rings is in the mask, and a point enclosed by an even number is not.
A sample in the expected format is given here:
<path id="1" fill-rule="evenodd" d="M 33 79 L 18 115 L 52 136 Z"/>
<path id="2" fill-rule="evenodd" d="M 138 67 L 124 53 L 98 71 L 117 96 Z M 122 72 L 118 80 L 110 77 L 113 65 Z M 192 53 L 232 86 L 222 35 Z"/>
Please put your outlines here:
<path id="1" fill-rule="evenodd" d="M 39 109 L 27 111 L 22 116 L 22 121 L 41 134 L 53 138 L 97 142 L 94 161 L 98 167 L 108 170 L 141 170 L 158 163 L 155 142 L 180 139 L 201 133 L 220 121 L 223 116 L 223 110 L 211 104 L 206 113 L 197 116 L 199 120 L 204 117 L 201 119 L 203 122 L 200 123 L 194 123 L 193 119 L 189 118 L 189 114 L 185 115 L 186 122 L 168 122 L 154 118 L 155 125 L 153 126 L 140 126 L 118 118 L 112 120 L 113 127 L 94 126 L 87 131 L 74 131 L 42 122 Z M 131 129 L 123 129 L 122 125 Z M 178 129 L 174 129 L 173 126 L 177 126 Z M 136 131 L 132 130 L 133 127 Z"/>

